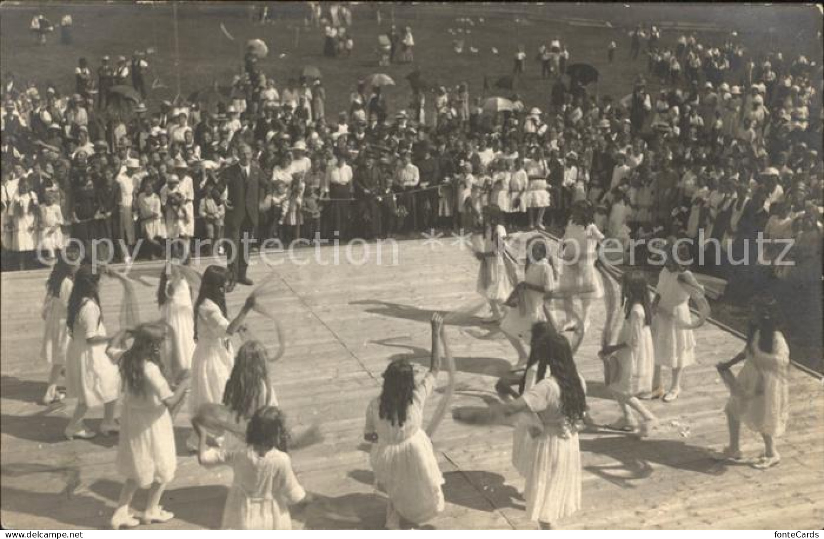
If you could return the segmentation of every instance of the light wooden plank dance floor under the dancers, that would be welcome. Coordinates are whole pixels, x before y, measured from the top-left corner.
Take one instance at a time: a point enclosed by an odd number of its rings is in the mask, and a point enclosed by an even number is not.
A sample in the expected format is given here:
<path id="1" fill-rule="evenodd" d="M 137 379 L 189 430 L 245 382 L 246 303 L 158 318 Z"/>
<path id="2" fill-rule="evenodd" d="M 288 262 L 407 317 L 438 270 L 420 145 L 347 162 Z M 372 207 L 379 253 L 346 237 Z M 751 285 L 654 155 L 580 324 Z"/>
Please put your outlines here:
<path id="1" fill-rule="evenodd" d="M 372 246 L 373 247 L 373 246 Z M 307 251 L 308 253 L 308 251 Z M 357 253 L 356 253 L 357 254 Z M 331 260 L 330 249 L 322 249 Z M 295 518 L 296 527 L 376 528 L 385 511 L 372 488 L 368 454 L 360 442 L 363 411 L 377 395 L 387 361 L 405 355 L 428 361 L 432 310 L 475 303 L 476 262 L 454 246 L 423 241 L 400 244 L 399 265 L 283 265 L 266 302 L 283 321 L 288 349 L 271 369 L 279 401 L 293 423 L 320 422 L 325 441 L 294 452 L 302 484 L 321 502 Z M 391 260 L 385 251 L 385 260 Z M 372 257 L 374 260 L 374 256 Z M 140 265 L 157 270 L 159 265 Z M 202 268 L 201 268 L 202 269 Z M 260 280 L 269 269 L 250 270 Z M 46 368 L 38 362 L 43 271 L 2 274 L 2 523 L 17 528 L 104 527 L 119 492 L 115 439 L 64 441 L 71 408 L 36 404 Z M 237 312 L 248 288 L 229 298 Z M 143 318 L 156 316 L 154 291 L 141 294 Z M 106 282 L 101 301 L 108 329 L 117 326 L 119 285 Z M 576 358 L 590 380 L 595 419 L 617 415 L 603 396 L 601 305 Z M 483 313 L 482 313 L 483 314 Z M 447 328 L 459 369 L 453 407 L 477 406 L 492 395 L 495 378 L 513 362 L 503 340 L 482 340 L 477 321 Z M 274 343 L 266 320 L 250 316 L 260 340 Z M 727 391 L 714 364 L 742 342 L 715 326 L 697 331 L 699 364 L 686 372 L 681 399 L 653 402 L 662 429 L 641 441 L 616 434 L 583 434 L 583 509 L 560 523 L 570 528 L 811 528 L 824 522 L 824 396 L 822 384 L 793 370 L 791 421 L 780 440 L 784 461 L 770 471 L 723 466 L 709 448 L 726 442 L 723 405 Z M 423 367 L 422 367 L 423 368 Z M 441 381 L 445 383 L 445 379 Z M 436 394 L 427 411 L 438 403 Z M 69 406 L 73 403 L 69 403 Z M 101 410 L 93 412 L 95 425 Z M 188 418 L 177 419 L 178 447 Z M 745 431 L 744 448 L 755 457 L 760 439 Z M 512 435 L 506 427 L 478 427 L 444 420 L 433 440 L 446 479 L 447 509 L 438 528 L 533 528 L 523 518 L 522 479 L 509 463 Z M 231 472 L 204 471 L 179 449 L 178 471 L 164 504 L 177 518 L 170 528 L 218 527 Z M 139 503 L 143 503 L 138 499 Z M 158 525 L 157 527 L 160 527 Z"/>

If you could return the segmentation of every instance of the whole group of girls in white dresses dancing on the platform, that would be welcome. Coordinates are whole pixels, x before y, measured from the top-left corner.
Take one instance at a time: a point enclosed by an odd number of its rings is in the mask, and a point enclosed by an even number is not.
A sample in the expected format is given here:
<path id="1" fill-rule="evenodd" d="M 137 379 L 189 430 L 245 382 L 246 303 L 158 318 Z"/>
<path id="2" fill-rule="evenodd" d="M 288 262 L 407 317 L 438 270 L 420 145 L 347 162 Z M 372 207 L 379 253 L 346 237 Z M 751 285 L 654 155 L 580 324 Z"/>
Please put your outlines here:
<path id="1" fill-rule="evenodd" d="M 599 357 L 621 415 L 606 428 L 644 438 L 658 419 L 643 401 L 672 402 L 681 394 L 683 369 L 695 361 L 689 301 L 705 300 L 690 270 L 679 264 L 685 259 L 671 250 L 653 297 L 644 273 L 630 269 L 621 278 L 616 302 L 606 270 L 597 261 L 602 234 L 586 203 L 574 209 L 559 255 L 550 254 L 545 237 L 532 237 L 521 271 L 509 239 L 492 207 L 475 246 L 480 260 L 477 290 L 489 302 L 492 332 L 499 330 L 513 344 L 517 364 L 495 384 L 500 397 L 496 404 L 472 418 L 461 417 L 459 410 L 453 415 L 457 420 L 515 424 L 512 461 L 525 481 L 527 518 L 550 528 L 581 507 L 578 431 L 600 427 L 588 415 L 587 384 L 576 368 L 576 361 L 588 360 L 576 358 L 576 353 L 590 326 L 592 302 L 606 296 L 614 303 L 610 307 L 606 301 Z M 231 280 L 227 269 L 210 265 L 200 277 L 170 261 L 157 286 L 161 320 L 109 336 L 98 294 L 103 276 L 129 280 L 114 269 L 96 270 L 58 257 L 46 284 L 41 355 L 51 366 L 44 403 L 77 399 L 65 436 L 119 436 L 116 468 L 124 482 L 111 526 L 137 527 L 174 518 L 162 508 L 161 499 L 176 472 L 174 418 L 188 403 L 193 429 L 187 446 L 201 465 L 234 471 L 222 527 L 289 529 L 290 508 L 322 498 L 302 488 L 289 452 L 319 443 L 322 435 L 317 425 L 288 428 L 284 419 L 269 377 L 270 364 L 284 351 L 278 322 L 274 320 L 279 334 L 274 353 L 250 338 L 235 351 L 231 337 L 244 333 L 256 294 L 232 317 L 226 305 Z M 556 310 L 558 302 L 561 308 Z M 614 337 L 611 326 L 619 322 Z M 426 523 L 444 509 L 444 480 L 430 439 L 433 429 L 424 428 L 424 406 L 442 372 L 442 358 L 452 375 L 454 363 L 444 316 L 435 313 L 431 326 L 428 372 L 416 379 L 408 359 L 392 361 L 383 373 L 380 394 L 366 410 L 363 438 L 372 444 L 369 462 L 376 484 L 388 497 L 387 528 Z M 743 368 L 733 375 L 730 368 L 742 361 Z M 662 389 L 662 367 L 672 370 L 667 391 Z M 775 466 L 780 462 L 775 438 L 788 419 L 789 349 L 774 308 L 760 303 L 754 309 L 741 354 L 717 368 L 730 389 L 729 444 L 714 457 L 762 469 Z M 58 390 L 61 373 L 65 395 Z M 96 433 L 83 418 L 99 406 L 104 417 Z M 742 423 L 764 439 L 765 452 L 753 461 L 745 461 L 742 454 Z M 143 512 L 132 508 L 140 489 L 149 491 Z"/>

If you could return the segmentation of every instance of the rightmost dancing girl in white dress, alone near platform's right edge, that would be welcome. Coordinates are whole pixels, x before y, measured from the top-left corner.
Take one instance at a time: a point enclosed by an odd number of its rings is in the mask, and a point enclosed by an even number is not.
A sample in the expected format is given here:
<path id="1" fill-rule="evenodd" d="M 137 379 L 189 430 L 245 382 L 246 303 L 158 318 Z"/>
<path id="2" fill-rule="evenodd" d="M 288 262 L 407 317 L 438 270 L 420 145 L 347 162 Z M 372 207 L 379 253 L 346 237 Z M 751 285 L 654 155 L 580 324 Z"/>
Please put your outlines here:
<path id="1" fill-rule="evenodd" d="M 729 369 L 746 361 L 733 378 Z M 717 365 L 730 387 L 727 401 L 729 445 L 720 460 L 743 462 L 741 424 L 761 434 L 764 453 L 752 462 L 766 469 L 781 462 L 775 438 L 784 434 L 789 419 L 789 347 L 777 329 L 775 304 L 761 306 L 751 322 L 747 346 L 735 358 Z"/>

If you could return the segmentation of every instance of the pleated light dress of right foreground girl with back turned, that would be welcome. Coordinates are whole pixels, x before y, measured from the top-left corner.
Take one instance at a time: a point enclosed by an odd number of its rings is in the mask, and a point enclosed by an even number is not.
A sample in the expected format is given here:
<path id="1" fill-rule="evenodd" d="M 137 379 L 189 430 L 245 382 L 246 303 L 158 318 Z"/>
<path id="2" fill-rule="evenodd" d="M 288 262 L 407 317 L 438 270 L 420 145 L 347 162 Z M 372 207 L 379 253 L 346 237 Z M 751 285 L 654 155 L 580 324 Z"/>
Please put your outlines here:
<path id="1" fill-rule="evenodd" d="M 583 379 L 581 384 L 586 392 Z M 555 523 L 581 508 L 578 432 L 566 425 L 561 413 L 561 389 L 555 378 L 545 377 L 522 398 L 544 427 L 544 433 L 532 441 L 531 466 L 523 492 L 527 518 Z"/>

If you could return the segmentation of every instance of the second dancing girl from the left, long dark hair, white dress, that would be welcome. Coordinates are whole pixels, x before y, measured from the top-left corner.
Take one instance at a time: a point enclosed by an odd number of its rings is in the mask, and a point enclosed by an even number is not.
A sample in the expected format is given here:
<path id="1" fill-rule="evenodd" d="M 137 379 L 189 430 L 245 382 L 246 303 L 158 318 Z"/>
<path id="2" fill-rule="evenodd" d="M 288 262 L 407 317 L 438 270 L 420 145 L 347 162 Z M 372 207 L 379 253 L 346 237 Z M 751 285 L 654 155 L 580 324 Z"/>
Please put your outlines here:
<path id="1" fill-rule="evenodd" d="M 106 270 L 104 270 L 106 271 Z M 106 274 L 117 276 L 116 272 Z M 115 405 L 120 387 L 117 366 L 105 354 L 109 344 L 97 289 L 101 274 L 82 265 L 74 274 L 68 298 L 66 326 L 72 339 L 66 350 L 66 396 L 77 397 L 77 406 L 64 431 L 66 438 L 94 438 L 83 424 L 89 408 L 103 406 L 101 434 L 116 433 Z"/>

